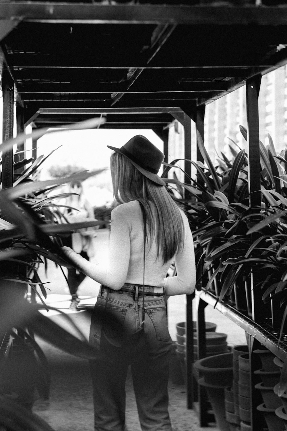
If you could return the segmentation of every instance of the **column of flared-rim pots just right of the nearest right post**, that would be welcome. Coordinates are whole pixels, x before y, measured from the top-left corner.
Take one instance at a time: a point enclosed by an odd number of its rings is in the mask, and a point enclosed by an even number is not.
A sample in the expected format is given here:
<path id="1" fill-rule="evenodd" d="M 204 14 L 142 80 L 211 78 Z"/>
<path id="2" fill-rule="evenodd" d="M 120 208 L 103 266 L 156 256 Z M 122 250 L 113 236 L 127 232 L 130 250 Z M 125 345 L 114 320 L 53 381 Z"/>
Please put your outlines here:
<path id="1" fill-rule="evenodd" d="M 274 363 L 275 355 L 268 349 L 254 350 L 259 354 L 262 369 L 254 373 L 261 378 L 261 383 L 255 385 L 256 389 L 261 391 L 263 403 L 257 407 L 262 412 L 269 431 L 280 431 L 284 429 L 284 421 L 275 413 L 281 407 L 281 401 L 274 392 L 274 387 L 280 380 L 280 369 Z"/>

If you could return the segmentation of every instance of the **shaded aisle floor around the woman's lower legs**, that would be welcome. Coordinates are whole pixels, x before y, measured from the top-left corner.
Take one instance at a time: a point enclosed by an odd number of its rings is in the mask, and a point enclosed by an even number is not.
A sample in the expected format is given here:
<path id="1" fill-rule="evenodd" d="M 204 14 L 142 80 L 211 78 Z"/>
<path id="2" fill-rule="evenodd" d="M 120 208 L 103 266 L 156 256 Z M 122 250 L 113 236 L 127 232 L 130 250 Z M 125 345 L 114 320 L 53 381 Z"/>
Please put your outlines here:
<path id="1" fill-rule="evenodd" d="M 93 399 L 88 363 L 37 340 L 45 352 L 52 372 L 48 401 L 36 400 L 33 411 L 55 431 L 92 431 Z M 140 431 L 131 375 L 127 379 L 127 431 Z M 170 417 L 173 431 L 217 431 L 200 428 L 194 410 L 186 409 L 185 386 L 170 382 Z"/>

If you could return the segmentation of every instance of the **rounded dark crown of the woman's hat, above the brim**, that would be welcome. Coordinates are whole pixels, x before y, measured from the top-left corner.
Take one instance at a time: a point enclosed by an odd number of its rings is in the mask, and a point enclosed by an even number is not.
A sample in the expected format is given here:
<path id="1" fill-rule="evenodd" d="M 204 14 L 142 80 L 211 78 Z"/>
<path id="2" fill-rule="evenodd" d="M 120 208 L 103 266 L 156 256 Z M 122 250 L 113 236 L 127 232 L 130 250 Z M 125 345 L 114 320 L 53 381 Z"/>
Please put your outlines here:
<path id="1" fill-rule="evenodd" d="M 133 157 L 134 162 L 150 172 L 157 173 L 164 161 L 164 154 L 142 135 L 133 136 L 121 150 L 129 153 L 127 156 Z"/>

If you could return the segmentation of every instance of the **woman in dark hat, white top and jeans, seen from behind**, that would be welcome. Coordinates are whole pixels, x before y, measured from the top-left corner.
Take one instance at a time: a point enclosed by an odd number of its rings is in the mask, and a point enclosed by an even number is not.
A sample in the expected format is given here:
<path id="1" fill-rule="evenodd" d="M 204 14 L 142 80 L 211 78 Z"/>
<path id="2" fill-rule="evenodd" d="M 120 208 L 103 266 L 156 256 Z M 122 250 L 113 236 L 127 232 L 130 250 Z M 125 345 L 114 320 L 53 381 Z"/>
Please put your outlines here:
<path id="1" fill-rule="evenodd" d="M 95 429 L 125 429 L 125 381 L 130 364 L 142 430 L 171 431 L 167 384 L 172 340 L 164 296 L 194 291 L 192 235 L 187 217 L 157 175 L 164 154 L 142 135 L 134 136 L 120 149 L 108 148 L 115 151 L 111 176 L 114 197 L 120 203 L 111 212 L 108 263 L 105 268 L 93 266 L 72 250 L 64 250 L 80 271 L 102 284 L 90 328 L 90 342 L 99 349 L 103 325 L 97 313 L 112 312 L 128 334 L 139 329 L 145 277 L 146 345 L 137 352 L 123 346 L 109 356 L 100 350 L 99 358 L 90 361 Z M 145 273 L 140 203 L 147 228 Z M 173 259 L 177 275 L 166 277 Z M 115 333 L 108 335 L 116 337 Z"/>

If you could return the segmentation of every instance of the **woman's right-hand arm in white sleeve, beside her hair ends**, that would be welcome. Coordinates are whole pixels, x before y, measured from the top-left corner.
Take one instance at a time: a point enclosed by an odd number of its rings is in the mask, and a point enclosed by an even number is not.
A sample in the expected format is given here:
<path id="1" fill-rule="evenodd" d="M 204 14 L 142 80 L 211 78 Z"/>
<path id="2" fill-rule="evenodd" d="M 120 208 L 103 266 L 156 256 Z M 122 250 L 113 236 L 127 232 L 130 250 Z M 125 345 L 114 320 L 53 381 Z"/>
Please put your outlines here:
<path id="1" fill-rule="evenodd" d="M 177 275 L 164 279 L 164 290 L 167 296 L 192 294 L 195 289 L 194 245 L 188 219 L 184 215 L 185 240 L 182 252 L 175 256 Z"/>

